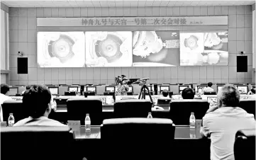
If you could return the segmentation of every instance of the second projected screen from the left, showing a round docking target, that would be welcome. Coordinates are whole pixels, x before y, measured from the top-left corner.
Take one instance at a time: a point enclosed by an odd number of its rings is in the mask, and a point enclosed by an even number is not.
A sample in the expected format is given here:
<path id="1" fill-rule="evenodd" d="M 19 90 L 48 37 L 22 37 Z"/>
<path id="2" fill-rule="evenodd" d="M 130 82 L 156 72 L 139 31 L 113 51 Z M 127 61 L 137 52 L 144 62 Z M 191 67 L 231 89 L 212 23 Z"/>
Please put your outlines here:
<path id="1" fill-rule="evenodd" d="M 86 32 L 87 67 L 131 67 L 131 32 Z"/>

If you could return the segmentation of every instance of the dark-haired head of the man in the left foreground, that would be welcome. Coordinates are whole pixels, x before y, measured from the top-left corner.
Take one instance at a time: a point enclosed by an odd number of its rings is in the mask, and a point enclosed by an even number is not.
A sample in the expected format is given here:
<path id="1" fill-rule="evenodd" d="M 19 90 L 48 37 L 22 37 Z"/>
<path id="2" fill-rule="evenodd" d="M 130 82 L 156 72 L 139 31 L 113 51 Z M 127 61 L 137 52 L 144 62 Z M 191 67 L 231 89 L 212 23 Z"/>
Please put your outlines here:
<path id="1" fill-rule="evenodd" d="M 32 118 L 48 117 L 50 114 L 51 94 L 46 86 L 30 86 L 30 89 L 23 94 L 22 101 L 28 116 Z"/>

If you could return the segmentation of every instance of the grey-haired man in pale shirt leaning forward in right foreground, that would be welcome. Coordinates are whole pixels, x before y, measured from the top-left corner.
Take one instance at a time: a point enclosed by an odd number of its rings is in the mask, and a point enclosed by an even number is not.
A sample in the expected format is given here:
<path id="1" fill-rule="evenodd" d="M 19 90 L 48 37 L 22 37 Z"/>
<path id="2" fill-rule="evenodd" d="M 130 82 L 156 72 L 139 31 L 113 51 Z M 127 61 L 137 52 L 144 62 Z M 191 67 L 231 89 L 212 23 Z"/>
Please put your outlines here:
<path id="1" fill-rule="evenodd" d="M 204 115 L 200 132 L 202 136 L 211 137 L 211 160 L 235 159 L 235 133 L 255 128 L 254 115 L 238 107 L 240 93 L 233 85 L 223 86 L 218 91 L 217 101 Z"/>

